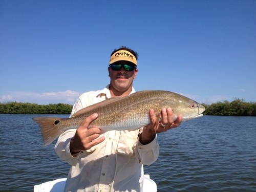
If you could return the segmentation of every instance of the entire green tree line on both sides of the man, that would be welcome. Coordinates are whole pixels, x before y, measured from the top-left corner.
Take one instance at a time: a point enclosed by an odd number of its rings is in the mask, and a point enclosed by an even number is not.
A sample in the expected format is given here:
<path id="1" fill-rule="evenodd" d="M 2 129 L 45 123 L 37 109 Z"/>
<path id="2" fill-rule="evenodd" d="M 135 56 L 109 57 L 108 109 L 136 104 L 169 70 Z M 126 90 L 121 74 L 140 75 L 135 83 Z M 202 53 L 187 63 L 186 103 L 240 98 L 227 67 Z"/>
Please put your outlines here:
<path id="1" fill-rule="evenodd" d="M 228 116 L 256 116 L 256 103 L 245 102 L 243 99 L 235 99 L 231 102 L 217 102 L 203 104 L 204 115 L 228 115 Z M 70 104 L 47 104 L 6 102 L 0 103 L 0 114 L 70 114 Z"/>

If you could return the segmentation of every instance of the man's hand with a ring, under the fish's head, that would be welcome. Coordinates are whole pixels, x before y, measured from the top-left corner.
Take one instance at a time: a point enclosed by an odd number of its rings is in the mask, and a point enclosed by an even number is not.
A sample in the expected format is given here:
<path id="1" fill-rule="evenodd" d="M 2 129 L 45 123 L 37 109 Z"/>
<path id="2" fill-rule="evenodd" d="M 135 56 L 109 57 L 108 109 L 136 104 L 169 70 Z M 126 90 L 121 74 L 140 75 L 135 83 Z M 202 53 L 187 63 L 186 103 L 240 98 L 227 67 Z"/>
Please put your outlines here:
<path id="1" fill-rule="evenodd" d="M 140 134 L 139 140 L 141 144 L 148 144 L 154 140 L 157 133 L 168 131 L 169 129 L 178 127 L 182 121 L 182 116 L 178 115 L 174 121 L 174 113 L 171 108 L 162 109 L 161 114 L 155 114 L 151 109 L 149 112 L 150 124 L 144 126 L 143 132 Z"/>

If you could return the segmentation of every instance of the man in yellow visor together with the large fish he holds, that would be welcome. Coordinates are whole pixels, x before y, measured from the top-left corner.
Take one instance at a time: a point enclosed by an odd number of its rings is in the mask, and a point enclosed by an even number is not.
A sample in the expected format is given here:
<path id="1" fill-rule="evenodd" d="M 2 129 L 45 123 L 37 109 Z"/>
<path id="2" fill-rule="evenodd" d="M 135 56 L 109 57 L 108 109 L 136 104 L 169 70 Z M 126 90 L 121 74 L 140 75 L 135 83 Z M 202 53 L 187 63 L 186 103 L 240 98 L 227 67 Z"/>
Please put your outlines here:
<path id="1" fill-rule="evenodd" d="M 154 163 L 159 154 L 156 134 L 202 116 L 204 106 L 183 95 L 135 93 L 137 60 L 129 48 L 114 50 L 110 84 L 83 93 L 70 118 L 33 118 L 44 145 L 59 137 L 55 151 L 71 165 L 65 191 L 143 191 L 143 165 Z"/>

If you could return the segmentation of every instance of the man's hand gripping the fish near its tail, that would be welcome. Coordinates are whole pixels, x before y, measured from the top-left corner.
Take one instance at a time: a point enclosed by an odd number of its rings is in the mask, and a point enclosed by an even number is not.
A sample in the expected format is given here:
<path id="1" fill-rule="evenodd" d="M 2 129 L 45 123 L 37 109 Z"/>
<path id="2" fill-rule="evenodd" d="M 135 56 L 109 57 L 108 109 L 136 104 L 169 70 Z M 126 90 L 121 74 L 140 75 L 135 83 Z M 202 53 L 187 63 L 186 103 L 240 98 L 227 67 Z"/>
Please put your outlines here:
<path id="1" fill-rule="evenodd" d="M 94 145 L 104 141 L 104 137 L 100 137 L 100 129 L 92 127 L 88 129 L 90 123 L 98 117 L 98 114 L 92 114 L 84 119 L 82 124 L 77 128 L 75 136 L 70 141 L 70 152 L 72 155 L 82 150 L 89 150 Z"/>

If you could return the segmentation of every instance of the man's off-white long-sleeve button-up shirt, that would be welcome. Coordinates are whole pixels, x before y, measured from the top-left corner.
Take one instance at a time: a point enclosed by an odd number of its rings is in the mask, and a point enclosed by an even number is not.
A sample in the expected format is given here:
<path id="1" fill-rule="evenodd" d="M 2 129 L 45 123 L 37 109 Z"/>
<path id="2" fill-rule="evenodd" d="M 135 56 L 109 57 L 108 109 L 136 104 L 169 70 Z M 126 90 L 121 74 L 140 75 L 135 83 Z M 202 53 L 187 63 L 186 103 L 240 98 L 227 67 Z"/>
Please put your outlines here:
<path id="1" fill-rule="evenodd" d="M 134 92 L 133 88 L 131 93 Z M 110 97 L 109 85 L 100 91 L 83 93 L 74 104 L 71 115 Z M 100 135 L 105 137 L 103 142 L 75 156 L 71 155 L 69 146 L 76 129 L 61 134 L 55 151 L 72 165 L 65 191 L 142 191 L 143 164 L 152 164 L 159 154 L 156 138 L 146 145 L 139 142 L 142 130 L 143 127 L 135 131 L 105 132 Z"/>

